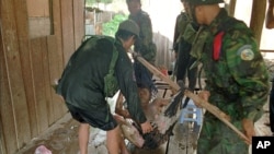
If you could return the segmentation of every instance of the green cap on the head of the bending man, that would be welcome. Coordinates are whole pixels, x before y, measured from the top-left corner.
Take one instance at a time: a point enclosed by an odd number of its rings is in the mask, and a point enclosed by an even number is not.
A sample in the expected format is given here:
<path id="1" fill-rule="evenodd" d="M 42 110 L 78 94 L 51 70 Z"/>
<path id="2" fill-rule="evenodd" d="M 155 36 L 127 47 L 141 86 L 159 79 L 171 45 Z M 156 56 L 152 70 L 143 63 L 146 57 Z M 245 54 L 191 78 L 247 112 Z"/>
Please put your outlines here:
<path id="1" fill-rule="evenodd" d="M 139 26 L 133 20 L 125 20 L 122 23 L 119 23 L 118 29 L 130 32 L 139 37 L 140 33 Z"/>

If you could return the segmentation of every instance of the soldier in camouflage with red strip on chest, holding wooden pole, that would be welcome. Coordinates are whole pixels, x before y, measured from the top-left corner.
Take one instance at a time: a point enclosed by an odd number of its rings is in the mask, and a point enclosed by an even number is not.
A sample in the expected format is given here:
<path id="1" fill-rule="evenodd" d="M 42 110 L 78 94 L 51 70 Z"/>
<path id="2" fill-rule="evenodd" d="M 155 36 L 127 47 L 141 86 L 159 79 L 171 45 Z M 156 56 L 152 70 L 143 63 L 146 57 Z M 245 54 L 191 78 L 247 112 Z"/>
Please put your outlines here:
<path id="1" fill-rule="evenodd" d="M 193 21 L 209 35 L 198 59 L 206 78 L 199 96 L 230 116 L 249 140 L 269 96 L 269 75 L 252 31 L 228 16 L 222 0 L 187 0 Z M 249 145 L 210 112 L 205 112 L 197 154 L 248 154 Z"/>

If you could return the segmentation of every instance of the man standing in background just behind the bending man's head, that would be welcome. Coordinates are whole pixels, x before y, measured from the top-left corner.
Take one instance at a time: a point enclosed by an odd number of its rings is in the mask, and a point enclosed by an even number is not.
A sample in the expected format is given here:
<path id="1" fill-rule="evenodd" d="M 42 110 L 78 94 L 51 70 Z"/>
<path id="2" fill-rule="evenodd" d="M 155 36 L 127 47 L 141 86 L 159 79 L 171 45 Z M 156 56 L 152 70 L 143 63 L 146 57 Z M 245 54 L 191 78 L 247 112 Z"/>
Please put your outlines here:
<path id="1" fill-rule="evenodd" d="M 141 10 L 140 0 L 126 0 L 129 16 L 128 19 L 135 21 L 139 28 L 139 39 L 134 44 L 134 50 L 142 56 L 148 62 L 155 64 L 156 62 L 156 44 L 152 40 L 152 25 L 149 14 Z M 134 71 L 138 87 L 146 86 L 151 94 L 157 93 L 157 88 L 152 81 L 152 73 L 144 67 L 137 59 L 134 62 Z"/>

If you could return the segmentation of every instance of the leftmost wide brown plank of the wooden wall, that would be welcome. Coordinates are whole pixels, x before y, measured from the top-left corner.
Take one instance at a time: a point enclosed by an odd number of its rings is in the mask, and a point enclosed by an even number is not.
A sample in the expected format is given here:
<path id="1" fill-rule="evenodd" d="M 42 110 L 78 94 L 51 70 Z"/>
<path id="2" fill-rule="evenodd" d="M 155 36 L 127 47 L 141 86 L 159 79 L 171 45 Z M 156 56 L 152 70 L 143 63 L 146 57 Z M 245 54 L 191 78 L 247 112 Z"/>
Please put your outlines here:
<path id="1" fill-rule="evenodd" d="M 18 42 L 20 39 L 15 16 L 18 14 L 12 0 L 2 0 L 1 2 L 1 15 L 4 16 L 1 17 L 1 28 L 3 29 L 1 37 L 5 68 L 2 74 L 4 82 L 3 92 L 8 94 L 1 98 L 3 99 L 1 100 L 1 120 L 3 122 L 2 130 L 7 153 L 14 153 L 14 147 L 20 147 L 31 140 L 31 129 L 20 59 L 20 43 Z"/>

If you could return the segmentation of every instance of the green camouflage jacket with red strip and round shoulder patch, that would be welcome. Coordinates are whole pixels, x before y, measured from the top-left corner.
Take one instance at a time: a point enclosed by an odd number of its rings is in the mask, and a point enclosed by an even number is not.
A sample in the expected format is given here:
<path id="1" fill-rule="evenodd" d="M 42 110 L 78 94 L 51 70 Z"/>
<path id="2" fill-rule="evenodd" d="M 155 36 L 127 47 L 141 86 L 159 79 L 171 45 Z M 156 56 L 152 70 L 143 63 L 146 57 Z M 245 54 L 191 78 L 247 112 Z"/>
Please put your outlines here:
<path id="1" fill-rule="evenodd" d="M 208 25 L 202 59 L 209 102 L 231 119 L 260 118 L 269 95 L 269 75 L 251 29 L 222 9 Z M 216 37 L 222 33 L 220 48 Z"/>

